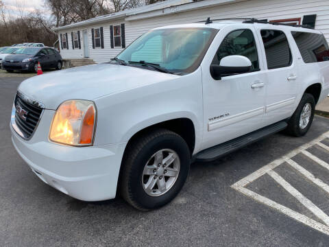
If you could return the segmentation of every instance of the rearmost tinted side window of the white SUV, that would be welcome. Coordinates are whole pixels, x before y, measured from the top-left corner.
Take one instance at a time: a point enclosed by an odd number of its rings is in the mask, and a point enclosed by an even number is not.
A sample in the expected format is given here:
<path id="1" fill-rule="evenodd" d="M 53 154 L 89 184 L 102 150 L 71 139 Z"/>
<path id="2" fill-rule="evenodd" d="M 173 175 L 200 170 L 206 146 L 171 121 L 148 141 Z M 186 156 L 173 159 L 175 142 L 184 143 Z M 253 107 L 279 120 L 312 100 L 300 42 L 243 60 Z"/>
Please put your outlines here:
<path id="1" fill-rule="evenodd" d="M 291 32 L 305 63 L 329 61 L 329 48 L 322 34 Z"/>

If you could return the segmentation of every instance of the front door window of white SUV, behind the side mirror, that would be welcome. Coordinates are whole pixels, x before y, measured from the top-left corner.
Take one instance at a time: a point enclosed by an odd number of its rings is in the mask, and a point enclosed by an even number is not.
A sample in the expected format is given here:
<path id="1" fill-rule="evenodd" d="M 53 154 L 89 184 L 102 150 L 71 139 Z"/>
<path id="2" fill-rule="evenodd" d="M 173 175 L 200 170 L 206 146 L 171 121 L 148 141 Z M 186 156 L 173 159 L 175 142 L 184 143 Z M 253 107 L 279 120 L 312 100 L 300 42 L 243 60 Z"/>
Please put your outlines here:
<path id="1" fill-rule="evenodd" d="M 230 55 L 245 56 L 252 61 L 254 71 L 259 69 L 254 34 L 251 30 L 236 30 L 228 34 L 219 46 L 212 64 L 219 64 L 222 58 Z"/>

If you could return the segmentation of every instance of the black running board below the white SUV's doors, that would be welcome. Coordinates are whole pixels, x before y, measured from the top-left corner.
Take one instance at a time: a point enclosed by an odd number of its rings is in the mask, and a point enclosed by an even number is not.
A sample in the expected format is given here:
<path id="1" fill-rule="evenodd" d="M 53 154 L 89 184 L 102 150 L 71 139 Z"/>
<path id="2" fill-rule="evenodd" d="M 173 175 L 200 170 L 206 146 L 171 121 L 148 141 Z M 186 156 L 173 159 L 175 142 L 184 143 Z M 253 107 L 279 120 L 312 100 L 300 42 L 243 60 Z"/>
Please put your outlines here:
<path id="1" fill-rule="evenodd" d="M 271 124 L 265 128 L 261 128 L 259 130 L 255 130 L 254 132 L 250 132 L 249 134 L 245 134 L 242 137 L 238 137 L 236 139 L 226 141 L 225 143 L 215 145 L 214 147 L 208 148 L 206 150 L 202 150 L 201 152 L 195 154 L 193 160 L 198 162 L 214 161 L 215 159 L 221 156 L 225 156 L 230 152 L 234 152 L 239 148 L 268 137 L 271 134 L 275 134 L 276 132 L 280 132 L 281 130 L 287 128 L 287 126 L 288 124 L 285 121 Z"/>

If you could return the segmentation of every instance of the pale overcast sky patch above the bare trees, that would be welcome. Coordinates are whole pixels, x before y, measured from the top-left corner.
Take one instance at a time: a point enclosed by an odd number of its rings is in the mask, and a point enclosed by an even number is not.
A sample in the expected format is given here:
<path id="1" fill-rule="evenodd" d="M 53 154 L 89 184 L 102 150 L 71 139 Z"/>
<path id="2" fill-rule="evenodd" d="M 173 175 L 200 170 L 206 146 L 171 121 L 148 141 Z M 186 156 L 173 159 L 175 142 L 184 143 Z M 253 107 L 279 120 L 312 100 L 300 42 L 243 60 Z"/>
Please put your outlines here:
<path id="1" fill-rule="evenodd" d="M 5 3 L 5 7 L 13 15 L 18 14 L 20 10 L 27 13 L 36 9 L 44 12 L 46 16 L 50 15 L 49 10 L 45 8 L 43 0 L 3 0 L 3 3 Z"/>

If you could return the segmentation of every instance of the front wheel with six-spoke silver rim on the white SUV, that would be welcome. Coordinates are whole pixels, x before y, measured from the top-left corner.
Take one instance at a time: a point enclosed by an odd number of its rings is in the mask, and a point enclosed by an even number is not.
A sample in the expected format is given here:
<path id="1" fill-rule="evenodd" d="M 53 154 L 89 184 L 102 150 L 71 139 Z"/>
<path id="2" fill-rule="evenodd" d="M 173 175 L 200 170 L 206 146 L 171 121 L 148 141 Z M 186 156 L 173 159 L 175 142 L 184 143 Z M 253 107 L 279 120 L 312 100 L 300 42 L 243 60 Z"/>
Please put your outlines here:
<path id="1" fill-rule="evenodd" d="M 164 161 L 169 155 L 172 158 L 176 156 L 171 165 L 167 167 L 168 170 L 164 166 L 159 166 L 158 161 L 160 159 L 157 161 L 156 156 L 154 156 L 159 153 L 163 154 Z M 152 156 L 153 158 L 151 158 Z M 156 163 L 158 163 L 158 167 L 156 167 Z M 162 161 L 160 163 L 163 165 Z M 151 130 L 132 141 L 127 147 L 119 180 L 121 196 L 141 211 L 162 207 L 173 200 L 182 189 L 190 169 L 190 163 L 190 150 L 182 137 L 169 130 Z M 151 164 L 155 166 L 151 166 Z M 151 168 L 145 169 L 147 165 Z M 145 175 L 147 170 L 152 174 Z M 155 170 L 156 173 L 154 173 Z M 178 172 L 175 173 L 173 170 L 178 170 Z M 172 172 L 176 175 L 171 174 Z M 168 176 L 169 174 L 170 176 Z M 154 189 L 149 186 L 151 189 L 147 190 L 145 187 L 153 182 L 156 184 Z M 160 191 L 160 185 L 163 183 L 166 187 L 162 186 L 162 191 Z"/>

